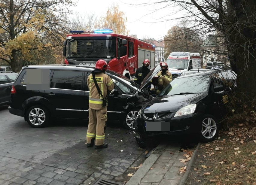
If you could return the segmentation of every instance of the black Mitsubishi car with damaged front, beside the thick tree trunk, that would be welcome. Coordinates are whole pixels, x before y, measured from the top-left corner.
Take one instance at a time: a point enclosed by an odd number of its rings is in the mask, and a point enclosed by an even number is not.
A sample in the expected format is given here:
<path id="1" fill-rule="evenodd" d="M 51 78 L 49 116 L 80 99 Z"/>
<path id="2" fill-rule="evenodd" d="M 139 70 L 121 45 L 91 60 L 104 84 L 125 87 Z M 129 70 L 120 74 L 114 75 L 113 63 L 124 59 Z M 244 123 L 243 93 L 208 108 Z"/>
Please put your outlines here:
<path id="1" fill-rule="evenodd" d="M 195 133 L 203 142 L 213 141 L 218 135 L 219 120 L 226 114 L 229 93 L 235 88 L 236 74 L 231 70 L 175 78 L 139 111 L 135 128 L 140 139 Z"/>

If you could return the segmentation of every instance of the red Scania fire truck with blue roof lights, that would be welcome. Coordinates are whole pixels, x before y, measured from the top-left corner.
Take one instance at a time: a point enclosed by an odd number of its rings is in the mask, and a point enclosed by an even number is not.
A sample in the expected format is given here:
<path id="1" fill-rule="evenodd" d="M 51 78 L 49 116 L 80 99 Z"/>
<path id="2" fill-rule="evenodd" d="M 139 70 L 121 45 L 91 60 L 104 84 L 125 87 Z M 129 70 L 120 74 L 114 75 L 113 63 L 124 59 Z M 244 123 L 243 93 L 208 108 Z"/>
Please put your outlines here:
<path id="1" fill-rule="evenodd" d="M 132 79 L 144 59 L 154 68 L 155 46 L 112 30 L 70 31 L 63 42 L 65 64 L 93 66 L 105 60 L 110 69 Z"/>

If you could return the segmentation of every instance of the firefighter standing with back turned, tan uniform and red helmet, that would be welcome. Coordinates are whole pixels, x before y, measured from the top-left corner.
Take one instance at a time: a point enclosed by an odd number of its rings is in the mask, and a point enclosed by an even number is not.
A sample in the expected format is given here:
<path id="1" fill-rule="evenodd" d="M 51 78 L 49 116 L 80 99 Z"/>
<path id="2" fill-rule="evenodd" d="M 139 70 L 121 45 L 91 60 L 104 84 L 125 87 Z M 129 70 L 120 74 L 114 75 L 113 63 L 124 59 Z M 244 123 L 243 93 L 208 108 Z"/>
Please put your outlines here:
<path id="1" fill-rule="evenodd" d="M 105 60 L 98 60 L 95 69 L 87 78 L 89 94 L 89 125 L 87 129 L 86 142 L 87 147 L 92 147 L 95 140 L 95 148 L 107 148 L 104 143 L 105 128 L 107 122 L 107 94 L 114 89 L 114 83 L 111 78 L 105 74 L 109 65 Z M 93 74 L 98 85 L 94 82 Z"/>

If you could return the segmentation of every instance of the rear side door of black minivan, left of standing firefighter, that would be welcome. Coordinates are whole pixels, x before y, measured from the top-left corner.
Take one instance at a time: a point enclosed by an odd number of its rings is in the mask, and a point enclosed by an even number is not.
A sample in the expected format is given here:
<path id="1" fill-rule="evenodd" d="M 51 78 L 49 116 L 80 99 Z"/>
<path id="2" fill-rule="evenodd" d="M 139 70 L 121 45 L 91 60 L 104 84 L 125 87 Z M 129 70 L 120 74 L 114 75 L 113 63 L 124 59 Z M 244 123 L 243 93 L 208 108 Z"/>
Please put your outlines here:
<path id="1" fill-rule="evenodd" d="M 44 96 L 53 106 L 57 118 L 84 119 L 84 72 L 53 70 L 50 88 Z"/>

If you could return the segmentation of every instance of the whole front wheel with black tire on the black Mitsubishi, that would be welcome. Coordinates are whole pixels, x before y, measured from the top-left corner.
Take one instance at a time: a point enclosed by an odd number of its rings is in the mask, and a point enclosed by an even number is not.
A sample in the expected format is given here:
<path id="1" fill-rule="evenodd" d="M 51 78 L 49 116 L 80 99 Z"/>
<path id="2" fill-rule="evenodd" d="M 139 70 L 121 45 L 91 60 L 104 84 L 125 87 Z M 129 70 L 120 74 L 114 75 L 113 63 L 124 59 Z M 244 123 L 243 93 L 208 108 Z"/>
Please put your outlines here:
<path id="1" fill-rule="evenodd" d="M 204 115 L 204 117 L 201 119 L 200 124 L 201 130 L 199 132 L 199 135 L 202 142 L 208 143 L 217 138 L 219 128 L 217 119 L 214 116 L 210 114 Z"/>

